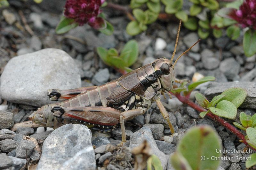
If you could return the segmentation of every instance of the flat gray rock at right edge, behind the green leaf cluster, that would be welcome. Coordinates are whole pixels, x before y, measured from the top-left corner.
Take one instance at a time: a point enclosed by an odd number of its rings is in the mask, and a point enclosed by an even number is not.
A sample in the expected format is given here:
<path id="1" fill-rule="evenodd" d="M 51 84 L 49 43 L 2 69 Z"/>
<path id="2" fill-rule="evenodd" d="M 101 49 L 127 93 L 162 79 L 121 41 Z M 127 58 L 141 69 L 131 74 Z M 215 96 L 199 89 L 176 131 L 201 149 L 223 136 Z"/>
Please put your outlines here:
<path id="1" fill-rule="evenodd" d="M 256 109 L 256 82 L 212 82 L 211 87 L 206 89 L 204 93 L 207 98 L 212 99 L 214 96 L 232 87 L 240 87 L 247 90 L 247 96 L 240 107 Z"/>

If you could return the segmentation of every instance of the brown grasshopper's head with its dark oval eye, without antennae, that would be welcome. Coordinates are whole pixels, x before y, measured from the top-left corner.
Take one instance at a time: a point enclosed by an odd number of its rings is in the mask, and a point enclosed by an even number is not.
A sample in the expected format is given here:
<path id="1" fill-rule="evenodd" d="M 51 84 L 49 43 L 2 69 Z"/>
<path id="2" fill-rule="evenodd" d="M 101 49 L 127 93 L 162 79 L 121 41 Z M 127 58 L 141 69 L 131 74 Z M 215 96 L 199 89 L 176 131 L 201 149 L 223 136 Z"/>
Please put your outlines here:
<path id="1" fill-rule="evenodd" d="M 154 61 L 152 66 L 161 81 L 162 89 L 170 91 L 173 86 L 173 81 L 175 80 L 172 62 L 161 57 Z"/>

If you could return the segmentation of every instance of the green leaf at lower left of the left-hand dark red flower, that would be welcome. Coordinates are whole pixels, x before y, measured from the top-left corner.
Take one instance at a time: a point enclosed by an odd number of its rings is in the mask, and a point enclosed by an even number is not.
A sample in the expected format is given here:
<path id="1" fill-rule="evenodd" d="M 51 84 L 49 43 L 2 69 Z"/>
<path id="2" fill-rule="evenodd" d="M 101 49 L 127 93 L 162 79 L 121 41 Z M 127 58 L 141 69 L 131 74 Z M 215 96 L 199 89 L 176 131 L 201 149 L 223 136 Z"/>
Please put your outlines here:
<path id="1" fill-rule="evenodd" d="M 63 34 L 68 32 L 70 29 L 77 27 L 78 24 L 75 22 L 74 19 L 66 18 L 61 16 L 60 22 L 56 27 L 57 34 Z"/>

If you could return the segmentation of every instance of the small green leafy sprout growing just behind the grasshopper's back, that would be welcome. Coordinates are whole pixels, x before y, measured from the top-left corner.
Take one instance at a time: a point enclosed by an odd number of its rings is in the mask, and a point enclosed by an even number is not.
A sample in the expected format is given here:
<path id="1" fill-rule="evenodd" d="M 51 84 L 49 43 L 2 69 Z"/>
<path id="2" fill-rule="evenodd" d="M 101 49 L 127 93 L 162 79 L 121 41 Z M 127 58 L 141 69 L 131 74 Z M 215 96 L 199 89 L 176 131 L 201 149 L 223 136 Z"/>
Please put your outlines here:
<path id="1" fill-rule="evenodd" d="M 98 47 L 97 53 L 102 61 L 108 66 L 113 66 L 130 72 L 132 69 L 129 68 L 129 66 L 132 66 L 138 58 L 139 45 L 135 40 L 130 40 L 124 45 L 120 55 L 114 48 L 107 50 L 103 47 Z"/>

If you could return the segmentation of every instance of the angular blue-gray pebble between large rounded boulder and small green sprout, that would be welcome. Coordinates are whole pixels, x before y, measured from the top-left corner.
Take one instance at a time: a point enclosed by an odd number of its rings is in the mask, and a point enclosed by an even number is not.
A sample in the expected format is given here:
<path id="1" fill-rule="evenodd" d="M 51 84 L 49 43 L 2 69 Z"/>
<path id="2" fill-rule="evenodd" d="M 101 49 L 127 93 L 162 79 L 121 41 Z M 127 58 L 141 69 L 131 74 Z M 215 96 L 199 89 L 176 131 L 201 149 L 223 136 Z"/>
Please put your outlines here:
<path id="1" fill-rule="evenodd" d="M 108 82 L 109 77 L 110 77 L 110 74 L 109 74 L 108 68 L 104 68 L 92 77 L 92 83 L 97 86 L 100 86 Z"/>

